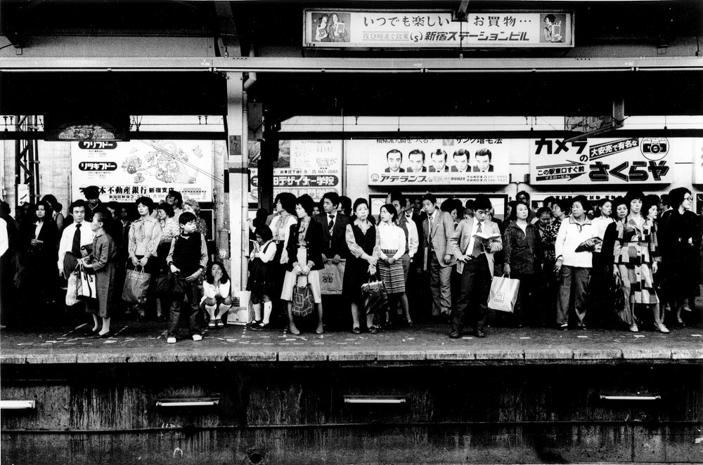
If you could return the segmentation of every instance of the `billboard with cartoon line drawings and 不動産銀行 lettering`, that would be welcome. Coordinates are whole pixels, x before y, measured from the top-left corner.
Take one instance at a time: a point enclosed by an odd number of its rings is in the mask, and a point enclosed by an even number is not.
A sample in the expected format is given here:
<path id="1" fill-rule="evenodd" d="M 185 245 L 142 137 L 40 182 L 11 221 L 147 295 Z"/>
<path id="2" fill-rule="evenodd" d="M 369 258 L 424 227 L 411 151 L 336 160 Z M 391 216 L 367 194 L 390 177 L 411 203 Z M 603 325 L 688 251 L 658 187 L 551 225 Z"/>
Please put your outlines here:
<path id="1" fill-rule="evenodd" d="M 103 202 L 183 198 L 212 202 L 212 140 L 80 140 L 71 143 L 72 198 L 97 185 Z"/>

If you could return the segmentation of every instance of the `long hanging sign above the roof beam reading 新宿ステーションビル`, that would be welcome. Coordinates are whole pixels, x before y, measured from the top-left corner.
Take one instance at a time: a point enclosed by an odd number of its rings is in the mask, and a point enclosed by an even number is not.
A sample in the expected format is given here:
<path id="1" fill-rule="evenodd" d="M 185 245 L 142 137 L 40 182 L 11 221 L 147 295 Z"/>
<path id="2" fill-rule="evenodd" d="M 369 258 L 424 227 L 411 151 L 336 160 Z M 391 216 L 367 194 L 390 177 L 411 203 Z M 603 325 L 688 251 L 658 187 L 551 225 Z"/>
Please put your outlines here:
<path id="1" fill-rule="evenodd" d="M 303 46 L 327 48 L 560 48 L 574 46 L 574 14 L 562 10 L 304 10 Z"/>

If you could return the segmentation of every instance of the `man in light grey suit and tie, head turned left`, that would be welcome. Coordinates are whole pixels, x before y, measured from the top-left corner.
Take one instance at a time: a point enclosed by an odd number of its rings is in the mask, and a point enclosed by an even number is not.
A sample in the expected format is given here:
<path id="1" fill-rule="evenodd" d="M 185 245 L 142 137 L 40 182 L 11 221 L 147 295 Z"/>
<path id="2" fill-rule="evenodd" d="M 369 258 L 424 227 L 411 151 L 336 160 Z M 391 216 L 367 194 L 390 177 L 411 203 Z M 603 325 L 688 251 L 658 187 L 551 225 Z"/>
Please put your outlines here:
<path id="1" fill-rule="evenodd" d="M 425 269 L 430 270 L 432 290 L 432 316 L 449 317 L 451 308 L 451 267 L 454 259 L 449 249 L 449 238 L 454 232 L 451 215 L 437 208 L 437 197 L 427 192 L 423 195 L 423 221 L 425 236 Z"/>

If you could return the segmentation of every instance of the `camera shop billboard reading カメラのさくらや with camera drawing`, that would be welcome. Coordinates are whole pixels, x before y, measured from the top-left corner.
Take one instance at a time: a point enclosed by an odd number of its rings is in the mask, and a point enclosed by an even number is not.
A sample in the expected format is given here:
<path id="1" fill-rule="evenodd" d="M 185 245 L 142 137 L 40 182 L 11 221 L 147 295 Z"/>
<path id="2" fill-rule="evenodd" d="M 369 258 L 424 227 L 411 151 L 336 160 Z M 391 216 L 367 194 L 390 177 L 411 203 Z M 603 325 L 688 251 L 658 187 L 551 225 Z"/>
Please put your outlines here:
<path id="1" fill-rule="evenodd" d="M 692 138 L 531 140 L 531 185 L 670 184 L 689 178 Z M 699 145 L 699 144 L 698 144 Z"/>

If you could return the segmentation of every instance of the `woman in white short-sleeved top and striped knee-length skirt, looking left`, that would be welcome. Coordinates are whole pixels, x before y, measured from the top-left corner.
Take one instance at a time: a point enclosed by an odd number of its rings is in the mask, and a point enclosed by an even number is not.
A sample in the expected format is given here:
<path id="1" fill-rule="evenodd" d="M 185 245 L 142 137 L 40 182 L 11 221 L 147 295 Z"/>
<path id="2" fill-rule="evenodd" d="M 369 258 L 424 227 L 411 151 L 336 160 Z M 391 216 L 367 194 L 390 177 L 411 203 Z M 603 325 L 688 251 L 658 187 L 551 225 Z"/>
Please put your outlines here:
<path id="1" fill-rule="evenodd" d="M 386 287 L 386 292 L 393 303 L 390 308 L 396 308 L 395 301 L 400 301 L 403 314 L 408 326 L 413 326 L 413 320 L 408 310 L 408 296 L 405 293 L 405 273 L 400 258 L 405 253 L 405 232 L 394 223 L 398 212 L 391 204 L 381 207 L 378 217 L 378 235 L 380 237 L 380 254 L 378 258 L 378 273 Z M 372 331 L 370 331 L 372 332 Z M 373 333 L 373 332 L 372 332 Z"/>

